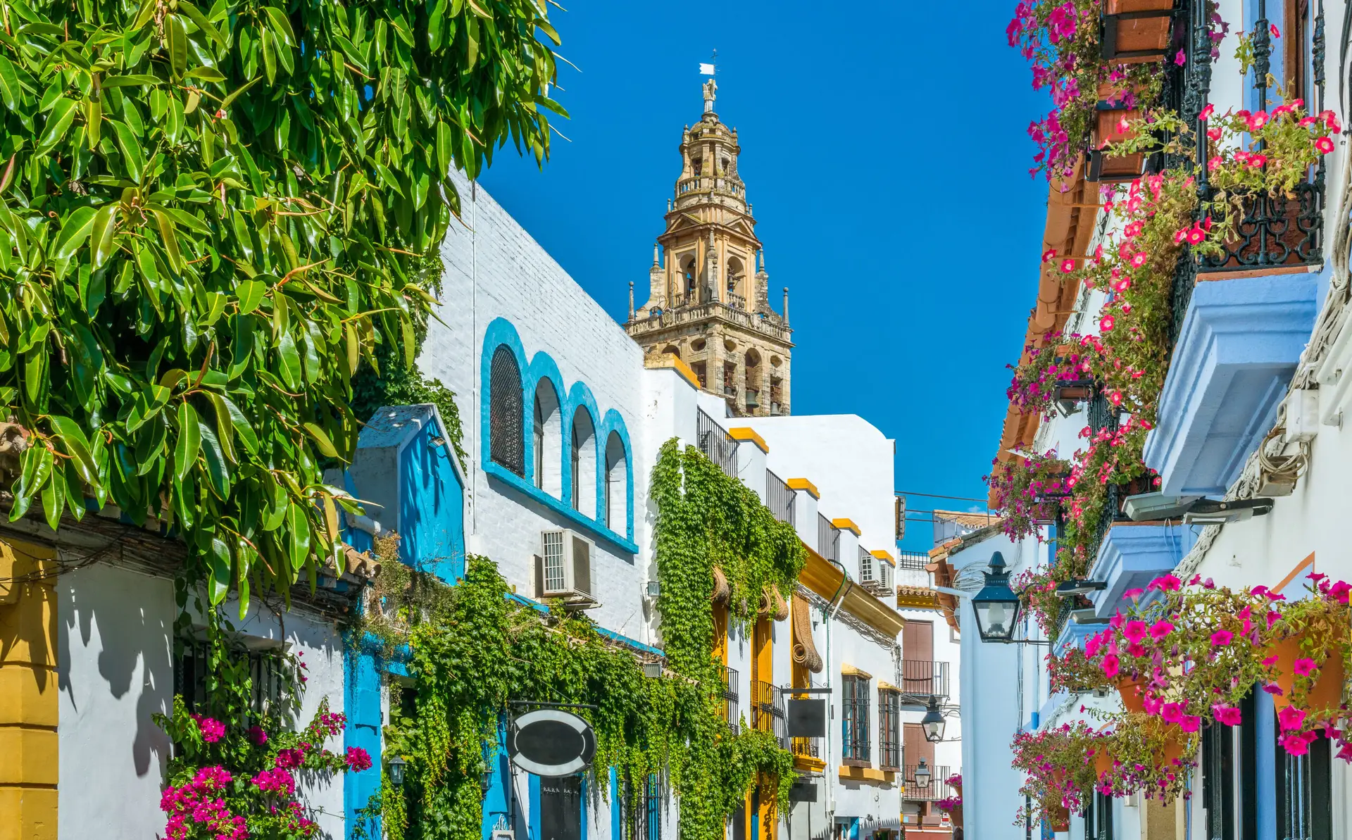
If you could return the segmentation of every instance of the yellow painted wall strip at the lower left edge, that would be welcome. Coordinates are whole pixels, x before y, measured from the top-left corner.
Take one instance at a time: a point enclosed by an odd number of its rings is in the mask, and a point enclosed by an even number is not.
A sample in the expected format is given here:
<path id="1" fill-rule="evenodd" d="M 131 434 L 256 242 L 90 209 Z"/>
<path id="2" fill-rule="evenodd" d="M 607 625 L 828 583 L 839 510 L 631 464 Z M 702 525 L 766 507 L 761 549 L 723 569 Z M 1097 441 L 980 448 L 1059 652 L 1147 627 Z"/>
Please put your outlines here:
<path id="1" fill-rule="evenodd" d="M 0 840 L 57 837 L 54 557 L 0 542 Z"/>

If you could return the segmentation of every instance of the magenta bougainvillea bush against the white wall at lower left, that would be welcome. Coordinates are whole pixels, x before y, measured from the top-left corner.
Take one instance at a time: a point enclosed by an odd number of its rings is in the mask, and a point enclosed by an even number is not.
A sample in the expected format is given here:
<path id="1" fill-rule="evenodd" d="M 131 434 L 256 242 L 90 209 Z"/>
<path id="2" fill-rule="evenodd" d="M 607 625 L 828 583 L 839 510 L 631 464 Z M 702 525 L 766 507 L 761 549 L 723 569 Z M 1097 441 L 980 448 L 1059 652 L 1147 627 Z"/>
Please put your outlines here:
<path id="1" fill-rule="evenodd" d="M 251 680 L 234 679 L 239 670 L 226 666 L 208 675 L 203 711 L 188 709 L 174 697 L 173 711 L 155 714 L 155 724 L 174 743 L 160 809 L 166 814 L 168 840 L 301 840 L 315 837 L 319 825 L 300 799 L 297 785 L 323 783 L 347 770 L 370 768 L 361 748 L 346 753 L 324 743 L 341 736 L 346 718 L 319 702 L 310 724 L 295 732 L 295 707 L 304 680 L 297 657 L 276 657 L 279 693 L 257 709 Z M 243 670 L 247 674 L 247 668 Z"/>

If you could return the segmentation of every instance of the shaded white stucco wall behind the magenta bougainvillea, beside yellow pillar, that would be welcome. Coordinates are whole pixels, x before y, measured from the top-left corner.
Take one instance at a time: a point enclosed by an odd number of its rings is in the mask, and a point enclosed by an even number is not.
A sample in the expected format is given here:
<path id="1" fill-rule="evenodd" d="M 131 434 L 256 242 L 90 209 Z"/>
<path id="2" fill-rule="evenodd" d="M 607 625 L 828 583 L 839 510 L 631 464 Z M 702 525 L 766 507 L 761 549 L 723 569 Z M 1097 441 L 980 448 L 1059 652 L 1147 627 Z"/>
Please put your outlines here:
<path id="1" fill-rule="evenodd" d="M 61 840 L 155 837 L 169 740 L 151 720 L 173 706 L 173 582 L 95 564 L 62 575 L 58 598 L 58 739 Z M 238 609 L 226 605 L 234 618 Z M 292 609 L 279 621 L 258 601 L 237 629 L 250 645 L 288 644 L 301 656 L 308 683 L 297 724 L 319 701 L 343 710 L 342 640 L 333 622 Z M 330 749 L 342 751 L 342 739 Z M 301 785 L 301 802 L 318 809 L 324 832 L 342 836 L 342 778 Z"/>

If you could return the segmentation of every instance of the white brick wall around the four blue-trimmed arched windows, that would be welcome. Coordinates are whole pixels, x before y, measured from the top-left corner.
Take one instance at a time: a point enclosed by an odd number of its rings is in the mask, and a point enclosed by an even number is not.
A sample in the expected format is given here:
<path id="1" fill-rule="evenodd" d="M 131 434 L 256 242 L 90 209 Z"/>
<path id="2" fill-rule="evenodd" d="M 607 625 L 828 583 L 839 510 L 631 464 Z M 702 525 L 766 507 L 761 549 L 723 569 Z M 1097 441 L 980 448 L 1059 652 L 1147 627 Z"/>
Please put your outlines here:
<path id="1" fill-rule="evenodd" d="M 539 552 L 539 532 L 569 522 L 526 494 L 491 480 L 483 469 L 479 372 L 487 326 L 506 318 L 516 327 L 527 360 L 544 350 L 558 365 L 565 391 L 583 381 L 600 415 L 615 409 L 623 417 L 633 448 L 634 541 L 646 546 L 654 449 L 641 434 L 642 350 L 481 187 L 460 176 L 457 187 L 464 225 L 452 222 L 442 245 L 445 273 L 437 317 L 443 323 L 431 321 L 419 365 L 452 388 L 460 406 L 470 467 L 466 548 L 491 557 L 518 592 L 534 597 L 531 556 Z M 588 615 L 650 643 L 641 597 L 646 557 L 598 541 L 592 587 L 602 606 Z"/>

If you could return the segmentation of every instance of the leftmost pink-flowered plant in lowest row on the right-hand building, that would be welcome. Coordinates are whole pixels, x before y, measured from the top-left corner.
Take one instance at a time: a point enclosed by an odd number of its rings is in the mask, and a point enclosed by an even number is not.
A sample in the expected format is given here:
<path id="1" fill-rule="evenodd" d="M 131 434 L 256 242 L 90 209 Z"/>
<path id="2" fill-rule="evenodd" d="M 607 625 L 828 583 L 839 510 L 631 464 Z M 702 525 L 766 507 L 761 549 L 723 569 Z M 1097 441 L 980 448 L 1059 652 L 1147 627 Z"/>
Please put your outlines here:
<path id="1" fill-rule="evenodd" d="M 1101 739 L 1084 721 L 1015 734 L 1013 766 L 1025 774 L 1019 793 L 1030 802 L 1019 818 L 1057 824 L 1068 812 L 1084 810 L 1096 780 L 1092 756 Z"/>

